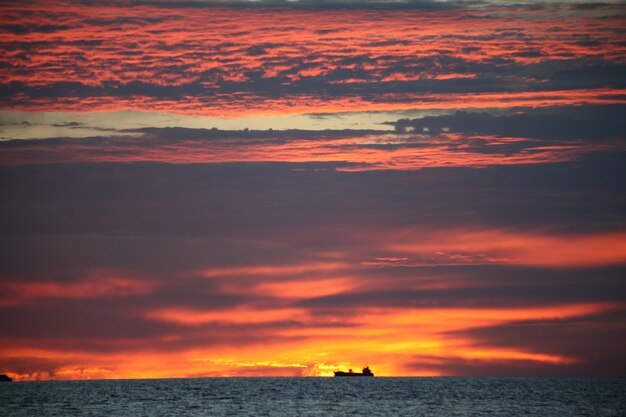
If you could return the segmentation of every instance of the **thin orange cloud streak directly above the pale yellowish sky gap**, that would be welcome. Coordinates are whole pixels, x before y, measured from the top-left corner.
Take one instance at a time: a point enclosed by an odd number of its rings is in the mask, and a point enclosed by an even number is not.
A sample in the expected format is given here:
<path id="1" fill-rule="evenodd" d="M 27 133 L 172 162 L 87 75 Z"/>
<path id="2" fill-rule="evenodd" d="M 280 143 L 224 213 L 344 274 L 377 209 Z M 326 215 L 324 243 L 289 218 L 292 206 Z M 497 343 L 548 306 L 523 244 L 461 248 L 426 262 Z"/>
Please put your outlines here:
<path id="1" fill-rule="evenodd" d="M 149 110 L 208 117 L 259 117 L 309 113 L 344 113 L 433 109 L 486 109 L 514 107 L 625 104 L 625 89 L 576 89 L 504 93 L 386 94 L 374 100 L 360 97 L 285 96 L 269 99 L 252 94 L 223 95 L 211 100 L 198 96 L 165 100 L 149 96 L 55 97 L 14 101 L 4 109 L 24 111 Z"/>

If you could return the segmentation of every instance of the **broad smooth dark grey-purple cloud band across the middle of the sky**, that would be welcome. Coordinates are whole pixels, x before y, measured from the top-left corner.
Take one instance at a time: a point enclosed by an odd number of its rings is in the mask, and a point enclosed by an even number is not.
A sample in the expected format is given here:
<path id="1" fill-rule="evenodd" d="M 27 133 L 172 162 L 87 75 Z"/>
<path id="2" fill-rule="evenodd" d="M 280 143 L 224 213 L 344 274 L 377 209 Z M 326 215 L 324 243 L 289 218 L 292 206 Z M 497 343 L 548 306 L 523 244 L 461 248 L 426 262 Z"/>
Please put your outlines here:
<path id="1" fill-rule="evenodd" d="M 313 170 L 324 167 L 331 170 Z M 611 230 L 624 210 L 621 154 L 478 170 L 342 173 L 333 167 L 297 163 L 2 167 L 5 203 L 0 228 L 5 236 L 103 232 L 222 236 L 341 224 Z M 294 172 L 295 168 L 307 170 Z M 395 215 L 385 215 L 389 211 Z"/>

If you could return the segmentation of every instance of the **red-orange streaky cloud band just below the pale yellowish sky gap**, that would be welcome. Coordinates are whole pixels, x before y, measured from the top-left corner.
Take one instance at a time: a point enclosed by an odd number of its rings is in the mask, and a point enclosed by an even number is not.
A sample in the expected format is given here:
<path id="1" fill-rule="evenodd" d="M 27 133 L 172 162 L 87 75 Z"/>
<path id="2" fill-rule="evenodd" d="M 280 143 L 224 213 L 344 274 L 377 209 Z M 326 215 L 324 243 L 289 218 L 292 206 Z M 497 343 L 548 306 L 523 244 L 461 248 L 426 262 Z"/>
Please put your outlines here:
<path id="1" fill-rule="evenodd" d="M 496 146 L 525 143 L 511 152 Z M 225 163 L 225 162 L 325 162 L 341 164 L 339 171 L 418 170 L 433 167 L 488 167 L 574 161 L 593 152 L 621 149 L 621 145 L 566 142 L 541 145 L 526 138 L 467 137 L 441 133 L 436 137 L 409 133 L 318 139 L 215 141 L 180 140 L 153 143 L 113 138 L 102 144 L 74 140 L 49 145 L 45 141 L 0 148 L 0 163 L 43 164 L 62 162 Z"/>

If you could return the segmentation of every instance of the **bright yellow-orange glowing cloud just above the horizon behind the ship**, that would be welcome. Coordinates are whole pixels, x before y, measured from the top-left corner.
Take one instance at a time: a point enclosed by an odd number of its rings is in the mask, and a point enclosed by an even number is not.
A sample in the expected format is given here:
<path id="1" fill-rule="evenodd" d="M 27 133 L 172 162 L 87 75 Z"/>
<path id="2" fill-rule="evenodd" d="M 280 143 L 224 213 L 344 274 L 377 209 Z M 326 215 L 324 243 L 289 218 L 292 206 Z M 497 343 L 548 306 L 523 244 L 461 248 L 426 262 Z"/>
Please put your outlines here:
<path id="1" fill-rule="evenodd" d="M 331 376 L 333 370 L 369 364 L 377 375 L 441 375 L 428 364 L 453 359 L 480 360 L 484 363 L 534 362 L 571 365 L 584 358 L 541 351 L 485 346 L 454 330 L 514 323 L 524 320 L 585 317 L 623 310 L 623 305 L 587 303 L 539 308 L 498 309 L 367 309 L 351 319 L 351 326 L 320 326 L 281 330 L 265 342 L 252 346 L 217 346 L 158 352 L 145 348 L 132 352 L 100 354 L 80 351 L 52 351 L 32 348 L 9 349 L 0 354 L 31 358 L 54 358 L 65 363 L 53 374 L 16 374 L 18 379 L 156 378 L 181 376 Z M 239 311 L 201 313 L 189 319 L 190 312 L 171 313 L 158 319 L 173 319 L 184 325 L 201 326 L 207 320 L 235 320 L 249 324 L 284 320 L 293 314 Z M 168 313 L 170 314 L 170 313 Z M 206 315 L 203 315 L 206 314 Z M 155 317 L 156 318 L 156 317 Z M 278 336 L 282 336 L 279 338 Z M 285 339 L 284 337 L 288 337 Z M 289 339 L 290 338 L 290 339 Z M 421 361 L 423 369 L 404 367 L 407 361 Z"/>

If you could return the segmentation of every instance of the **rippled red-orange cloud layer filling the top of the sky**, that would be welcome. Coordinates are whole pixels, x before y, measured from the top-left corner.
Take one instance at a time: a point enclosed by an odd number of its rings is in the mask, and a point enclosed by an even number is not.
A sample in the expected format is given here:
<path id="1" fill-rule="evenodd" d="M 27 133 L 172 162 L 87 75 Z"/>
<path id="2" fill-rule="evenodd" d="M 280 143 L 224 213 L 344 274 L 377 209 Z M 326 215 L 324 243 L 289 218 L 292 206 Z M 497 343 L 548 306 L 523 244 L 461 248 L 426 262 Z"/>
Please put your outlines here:
<path id="1" fill-rule="evenodd" d="M 429 91 L 431 84 L 426 89 L 410 84 L 480 80 L 512 65 L 622 63 L 624 19 L 618 17 L 618 6 L 608 10 L 613 14 L 565 14 L 558 7 L 542 14 L 497 8 L 381 14 L 366 9 L 266 13 L 238 8 L 234 13 L 217 7 L 2 5 L 2 21 L 22 30 L 2 34 L 0 78 L 24 87 L 2 106 L 242 117 L 623 103 L 623 89 L 578 85 L 552 91 L 543 69 L 521 71 L 508 92 L 498 86 L 472 94 L 455 88 Z M 42 27 L 42 21 L 54 22 L 56 29 Z M 398 82 L 409 84 L 394 88 Z M 333 89 L 345 85 L 354 88 Z M 519 86 L 529 90 L 520 92 Z"/>

